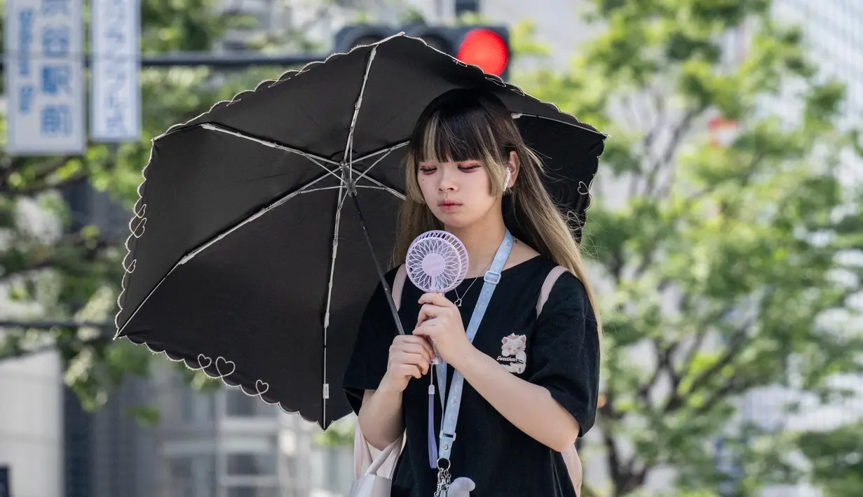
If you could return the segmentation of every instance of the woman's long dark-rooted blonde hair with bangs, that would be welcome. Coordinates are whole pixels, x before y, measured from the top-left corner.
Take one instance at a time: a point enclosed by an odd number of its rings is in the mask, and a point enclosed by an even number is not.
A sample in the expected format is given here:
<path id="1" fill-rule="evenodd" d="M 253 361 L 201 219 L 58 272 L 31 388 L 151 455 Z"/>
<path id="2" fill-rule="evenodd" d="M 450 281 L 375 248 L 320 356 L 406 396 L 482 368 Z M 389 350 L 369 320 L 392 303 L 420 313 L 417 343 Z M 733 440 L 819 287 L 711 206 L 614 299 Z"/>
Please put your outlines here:
<path id="1" fill-rule="evenodd" d="M 425 205 L 417 183 L 421 160 L 480 160 L 488 171 L 492 195 L 503 196 L 502 183 L 512 151 L 520 158 L 520 170 L 513 188 L 504 196 L 504 210 L 513 214 L 513 221 L 507 223 L 507 228 L 581 280 L 602 337 L 602 320 L 582 252 L 563 212 L 542 183 L 545 173 L 542 161 L 526 146 L 506 106 L 492 94 L 479 90 L 450 90 L 438 96 L 420 115 L 406 150 L 406 198 L 401 205 L 394 266 L 405 262 L 413 239 L 426 231 L 443 229 Z"/>

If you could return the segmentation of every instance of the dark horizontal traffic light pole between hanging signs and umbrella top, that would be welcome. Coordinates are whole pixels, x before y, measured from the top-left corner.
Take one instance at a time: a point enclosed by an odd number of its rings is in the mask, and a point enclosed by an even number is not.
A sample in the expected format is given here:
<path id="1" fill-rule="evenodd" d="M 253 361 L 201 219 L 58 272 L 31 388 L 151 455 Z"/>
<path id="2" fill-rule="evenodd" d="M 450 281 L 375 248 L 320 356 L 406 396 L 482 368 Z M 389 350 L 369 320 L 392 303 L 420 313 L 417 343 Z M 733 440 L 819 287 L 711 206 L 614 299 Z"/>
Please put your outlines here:
<path id="1" fill-rule="evenodd" d="M 327 58 L 325 54 L 309 53 L 285 53 L 280 55 L 268 55 L 257 52 L 173 52 L 142 54 L 142 67 L 219 67 L 219 68 L 244 68 L 252 65 L 306 65 L 310 62 L 323 61 Z M 90 66 L 90 56 L 85 57 L 84 63 Z M 0 71 L 3 71 L 4 60 L 0 59 Z"/>

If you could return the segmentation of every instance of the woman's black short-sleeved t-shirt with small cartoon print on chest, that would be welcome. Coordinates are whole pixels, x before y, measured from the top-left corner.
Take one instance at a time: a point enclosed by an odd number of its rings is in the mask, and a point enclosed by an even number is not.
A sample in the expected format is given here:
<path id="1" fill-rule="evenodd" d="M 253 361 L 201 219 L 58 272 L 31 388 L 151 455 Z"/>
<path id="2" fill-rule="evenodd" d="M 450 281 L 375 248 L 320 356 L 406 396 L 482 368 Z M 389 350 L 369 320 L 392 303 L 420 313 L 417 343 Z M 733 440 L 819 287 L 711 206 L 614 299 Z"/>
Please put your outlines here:
<path id="1" fill-rule="evenodd" d="M 576 276 L 564 273 L 551 289 L 539 318 L 539 292 L 556 264 L 536 257 L 501 273 L 473 345 L 527 382 L 541 385 L 581 426 L 581 435 L 594 424 L 599 378 L 599 337 L 587 293 Z M 392 285 L 396 270 L 387 273 Z M 459 295 L 472 279 L 458 288 Z M 464 326 L 482 289 L 477 281 L 460 308 Z M 405 332 L 417 322 L 422 292 L 406 279 L 399 315 Z M 455 292 L 446 295 L 456 300 Z M 343 378 L 351 407 L 358 413 L 365 389 L 375 389 L 387 372 L 389 346 L 396 335 L 381 285 L 362 317 L 355 349 Z M 504 350 L 506 348 L 506 350 Z M 447 392 L 452 368 L 447 368 Z M 436 380 L 437 384 L 437 380 Z M 428 457 L 429 375 L 412 379 L 402 395 L 406 445 L 396 465 L 393 497 L 434 494 L 438 470 Z M 440 389 L 435 394 L 435 433 L 440 432 Z M 476 482 L 472 495 L 565 496 L 576 492 L 561 454 L 528 436 L 498 413 L 467 381 L 450 456 L 450 474 Z"/>

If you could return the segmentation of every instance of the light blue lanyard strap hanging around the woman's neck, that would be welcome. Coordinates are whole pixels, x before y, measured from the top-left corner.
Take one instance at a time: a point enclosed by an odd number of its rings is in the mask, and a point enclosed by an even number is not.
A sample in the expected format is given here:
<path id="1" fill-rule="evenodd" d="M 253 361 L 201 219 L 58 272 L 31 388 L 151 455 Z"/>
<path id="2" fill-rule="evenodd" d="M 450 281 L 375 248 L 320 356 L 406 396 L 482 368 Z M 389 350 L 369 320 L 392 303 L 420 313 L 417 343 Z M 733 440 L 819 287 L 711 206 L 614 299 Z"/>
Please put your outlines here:
<path id="1" fill-rule="evenodd" d="M 494 293 L 494 287 L 501 281 L 501 271 L 503 265 L 506 264 L 509 258 L 509 252 L 513 248 L 513 234 L 507 233 L 503 237 L 501 246 L 498 247 L 497 253 L 494 255 L 494 260 L 491 267 L 485 276 L 482 278 L 485 283 L 482 284 L 482 292 L 479 299 L 476 301 L 474 312 L 470 316 L 468 329 L 465 330 L 468 335 L 469 342 L 473 343 L 476 336 L 476 330 L 480 327 L 482 316 L 485 315 L 488 302 L 491 301 L 491 295 Z M 441 401 L 444 399 L 444 387 L 446 386 L 446 363 L 441 360 L 435 366 L 438 373 L 438 388 L 440 389 Z M 456 440 L 456 422 L 458 420 L 458 409 L 461 407 L 462 389 L 464 385 L 464 376 L 457 370 L 452 373 L 452 382 L 450 382 L 449 395 L 444 405 L 444 419 L 441 422 L 440 429 L 440 444 L 438 446 L 438 465 L 441 460 L 450 461 L 450 453 L 452 452 L 452 443 Z M 449 464 L 448 466 L 449 467 Z"/>

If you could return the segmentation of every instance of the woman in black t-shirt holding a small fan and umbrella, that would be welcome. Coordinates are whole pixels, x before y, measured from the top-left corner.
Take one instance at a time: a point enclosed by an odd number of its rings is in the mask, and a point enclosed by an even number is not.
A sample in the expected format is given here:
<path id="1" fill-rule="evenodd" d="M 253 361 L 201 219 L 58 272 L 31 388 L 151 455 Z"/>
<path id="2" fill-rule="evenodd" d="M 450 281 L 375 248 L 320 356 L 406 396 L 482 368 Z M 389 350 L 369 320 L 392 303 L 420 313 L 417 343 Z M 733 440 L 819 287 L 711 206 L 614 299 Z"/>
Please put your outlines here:
<path id="1" fill-rule="evenodd" d="M 405 335 L 395 331 L 380 285 L 362 319 L 343 385 L 369 444 L 380 450 L 405 433 L 394 497 L 429 497 L 437 488 L 427 441 L 429 341 L 449 366 L 447 392 L 453 370 L 463 376 L 451 478 L 469 477 L 482 496 L 576 495 L 561 451 L 593 426 L 602 329 L 578 246 L 541 172 L 493 95 L 452 90 L 417 122 L 406 153 L 396 265 L 420 233 L 444 229 L 468 249 L 469 270 L 444 296 L 405 284 Z M 471 342 L 465 327 L 484 284 L 477 282 L 508 233 L 504 206 L 513 209 L 513 231 L 524 240 L 512 244 Z M 557 264 L 570 272 L 557 279 L 537 316 L 540 288 Z M 387 274 L 391 285 L 395 274 Z M 440 393 L 434 433 L 441 432 Z"/>

